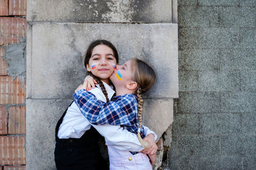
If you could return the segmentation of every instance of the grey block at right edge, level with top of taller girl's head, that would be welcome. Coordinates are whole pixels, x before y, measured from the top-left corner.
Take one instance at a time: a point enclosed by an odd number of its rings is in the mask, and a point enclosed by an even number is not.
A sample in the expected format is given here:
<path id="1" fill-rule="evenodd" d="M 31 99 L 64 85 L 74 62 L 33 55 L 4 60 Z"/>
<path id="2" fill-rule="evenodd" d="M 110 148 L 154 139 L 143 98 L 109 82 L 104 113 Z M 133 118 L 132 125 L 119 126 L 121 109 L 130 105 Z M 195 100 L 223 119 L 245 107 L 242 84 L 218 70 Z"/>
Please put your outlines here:
<path id="1" fill-rule="evenodd" d="M 256 46 L 256 28 L 241 28 L 240 29 L 241 48 L 255 48 Z"/>

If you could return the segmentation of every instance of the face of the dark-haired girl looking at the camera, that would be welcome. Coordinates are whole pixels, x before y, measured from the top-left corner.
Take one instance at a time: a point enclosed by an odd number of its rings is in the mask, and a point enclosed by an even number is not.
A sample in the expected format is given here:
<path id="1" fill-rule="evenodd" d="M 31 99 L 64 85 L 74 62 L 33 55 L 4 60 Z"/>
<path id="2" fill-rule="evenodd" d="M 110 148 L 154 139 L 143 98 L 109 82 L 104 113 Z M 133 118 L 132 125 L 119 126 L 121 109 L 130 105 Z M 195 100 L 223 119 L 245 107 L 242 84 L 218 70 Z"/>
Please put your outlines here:
<path id="1" fill-rule="evenodd" d="M 92 50 L 92 57 L 86 68 L 87 71 L 91 71 L 100 80 L 108 83 L 109 77 L 114 71 L 114 66 L 116 66 L 116 59 L 113 50 L 106 45 L 97 45 Z"/>

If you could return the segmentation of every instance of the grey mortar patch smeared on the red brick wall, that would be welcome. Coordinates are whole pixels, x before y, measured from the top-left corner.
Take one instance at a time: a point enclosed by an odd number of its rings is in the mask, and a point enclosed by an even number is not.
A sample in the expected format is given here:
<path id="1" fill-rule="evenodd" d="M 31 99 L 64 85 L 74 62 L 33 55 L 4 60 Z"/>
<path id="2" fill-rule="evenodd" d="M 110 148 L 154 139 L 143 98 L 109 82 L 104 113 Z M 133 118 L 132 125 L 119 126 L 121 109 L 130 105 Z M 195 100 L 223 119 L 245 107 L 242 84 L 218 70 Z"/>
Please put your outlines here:
<path id="1" fill-rule="evenodd" d="M 16 76 L 20 80 L 26 78 L 26 39 L 20 38 L 19 44 L 5 46 L 3 59 L 8 64 L 8 75 L 13 76 L 13 79 Z"/>

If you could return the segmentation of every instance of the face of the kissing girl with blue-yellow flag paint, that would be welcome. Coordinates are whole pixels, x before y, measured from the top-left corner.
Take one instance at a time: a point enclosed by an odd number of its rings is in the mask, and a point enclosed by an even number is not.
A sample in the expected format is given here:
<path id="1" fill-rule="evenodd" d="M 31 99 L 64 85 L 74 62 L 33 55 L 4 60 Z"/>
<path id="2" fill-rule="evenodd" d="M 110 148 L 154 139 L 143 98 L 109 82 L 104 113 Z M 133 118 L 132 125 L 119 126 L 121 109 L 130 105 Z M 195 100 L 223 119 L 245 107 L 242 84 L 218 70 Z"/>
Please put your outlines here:
<path id="1" fill-rule="evenodd" d="M 110 80 L 117 88 L 125 86 L 132 80 L 132 64 L 134 60 L 127 60 L 123 65 L 116 65 L 116 69 L 110 77 Z"/>

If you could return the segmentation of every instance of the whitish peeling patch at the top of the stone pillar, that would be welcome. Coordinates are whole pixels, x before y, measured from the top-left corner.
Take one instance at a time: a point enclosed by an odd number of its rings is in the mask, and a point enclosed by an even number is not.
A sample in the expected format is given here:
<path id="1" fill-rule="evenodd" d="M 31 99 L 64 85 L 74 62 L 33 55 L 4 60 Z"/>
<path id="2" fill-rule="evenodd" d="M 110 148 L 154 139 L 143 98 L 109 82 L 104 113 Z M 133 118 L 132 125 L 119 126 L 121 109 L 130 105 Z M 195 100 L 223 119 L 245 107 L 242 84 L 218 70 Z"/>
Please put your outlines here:
<path id="1" fill-rule="evenodd" d="M 102 18 L 111 22 L 130 22 L 134 11 L 134 1 L 111 0 L 108 3 L 111 11 L 102 14 Z"/>

